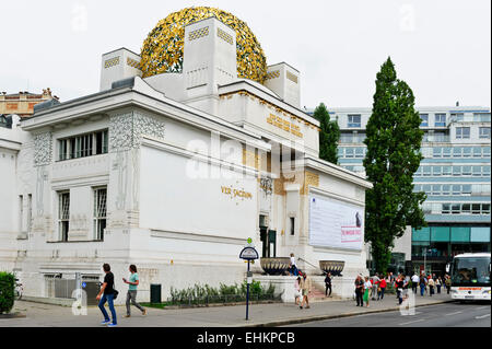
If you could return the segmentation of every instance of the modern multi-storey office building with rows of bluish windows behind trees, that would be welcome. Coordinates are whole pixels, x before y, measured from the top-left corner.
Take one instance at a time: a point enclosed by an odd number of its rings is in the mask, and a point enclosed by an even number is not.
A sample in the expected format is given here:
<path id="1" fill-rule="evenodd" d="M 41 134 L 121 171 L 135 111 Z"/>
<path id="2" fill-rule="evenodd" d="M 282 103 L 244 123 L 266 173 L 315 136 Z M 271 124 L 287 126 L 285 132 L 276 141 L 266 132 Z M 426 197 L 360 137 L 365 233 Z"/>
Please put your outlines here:
<path id="1" fill-rule="evenodd" d="M 412 229 L 411 239 L 397 241 L 391 264 L 407 271 L 425 267 L 443 272 L 458 253 L 490 252 L 491 113 L 478 106 L 417 109 L 425 132 L 421 148 L 424 159 L 413 184 L 415 191 L 427 196 L 422 208 L 429 226 Z M 363 141 L 371 113 L 371 108 L 330 109 L 341 131 L 339 164 L 363 175 Z"/>

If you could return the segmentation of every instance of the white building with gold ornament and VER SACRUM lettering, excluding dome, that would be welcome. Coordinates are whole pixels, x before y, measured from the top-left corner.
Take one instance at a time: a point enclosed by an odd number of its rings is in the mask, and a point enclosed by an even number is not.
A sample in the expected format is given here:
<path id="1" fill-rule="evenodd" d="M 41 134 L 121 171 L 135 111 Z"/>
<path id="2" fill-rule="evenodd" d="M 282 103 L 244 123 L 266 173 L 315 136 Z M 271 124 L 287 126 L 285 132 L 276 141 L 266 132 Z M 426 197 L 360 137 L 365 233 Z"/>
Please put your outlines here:
<path id="1" fill-rule="evenodd" d="M 203 27 L 222 35 L 191 40 Z M 234 30 L 214 18 L 186 26 L 183 72 L 143 79 L 139 55 L 105 54 L 99 92 L 0 128 L 0 269 L 16 272 L 25 295 L 60 296 L 54 279 L 102 280 L 104 263 L 118 290 L 136 264 L 141 300 L 152 283 L 166 298 L 243 282 L 248 237 L 260 256 L 294 253 L 308 272 L 319 260 L 343 260 L 351 280 L 367 272 L 371 184 L 318 158 L 298 71 L 280 63 L 265 85 L 238 79 L 224 37 Z"/>

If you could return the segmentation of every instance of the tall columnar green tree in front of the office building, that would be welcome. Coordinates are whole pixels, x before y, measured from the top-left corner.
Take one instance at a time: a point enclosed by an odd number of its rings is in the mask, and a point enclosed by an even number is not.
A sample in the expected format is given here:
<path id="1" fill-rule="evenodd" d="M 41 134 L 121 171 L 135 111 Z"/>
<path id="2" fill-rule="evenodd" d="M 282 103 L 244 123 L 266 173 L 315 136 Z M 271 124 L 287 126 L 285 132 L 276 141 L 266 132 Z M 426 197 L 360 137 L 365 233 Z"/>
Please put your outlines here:
<path id="1" fill-rule="evenodd" d="M 396 237 L 407 225 L 425 226 L 420 205 L 424 193 L 413 193 L 413 174 L 423 159 L 423 131 L 410 86 L 397 79 L 388 57 L 376 78 L 373 113 L 366 126 L 364 167 L 373 188 L 365 196 L 365 242 L 371 243 L 378 272 L 386 272 Z"/>

